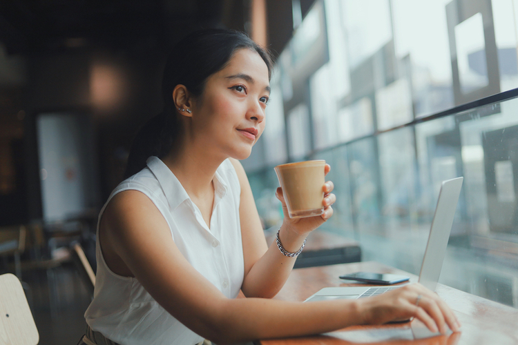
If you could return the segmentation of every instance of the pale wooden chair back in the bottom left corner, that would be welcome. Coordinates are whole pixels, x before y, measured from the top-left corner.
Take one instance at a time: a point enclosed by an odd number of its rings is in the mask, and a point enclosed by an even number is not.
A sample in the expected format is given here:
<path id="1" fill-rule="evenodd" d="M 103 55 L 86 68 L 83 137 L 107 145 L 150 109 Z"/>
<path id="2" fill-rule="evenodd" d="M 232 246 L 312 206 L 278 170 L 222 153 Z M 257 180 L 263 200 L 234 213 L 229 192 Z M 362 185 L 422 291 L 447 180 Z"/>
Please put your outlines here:
<path id="1" fill-rule="evenodd" d="M 39 333 L 19 279 L 0 275 L 0 345 L 36 345 Z"/>

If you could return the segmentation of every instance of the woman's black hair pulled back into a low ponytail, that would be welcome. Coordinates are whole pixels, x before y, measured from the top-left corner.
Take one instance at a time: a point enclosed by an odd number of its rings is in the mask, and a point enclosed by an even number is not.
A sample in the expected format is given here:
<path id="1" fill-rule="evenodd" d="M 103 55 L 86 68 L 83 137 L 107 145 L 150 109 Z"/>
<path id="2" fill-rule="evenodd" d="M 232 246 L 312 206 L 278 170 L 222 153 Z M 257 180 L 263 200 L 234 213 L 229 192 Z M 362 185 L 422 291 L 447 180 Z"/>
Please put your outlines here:
<path id="1" fill-rule="evenodd" d="M 148 157 L 167 155 L 180 138 L 180 120 L 173 101 L 175 86 L 182 84 L 200 97 L 207 78 L 225 68 L 236 50 L 248 48 L 257 52 L 271 77 L 273 66 L 268 50 L 236 30 L 206 29 L 193 32 L 179 41 L 169 55 L 162 79 L 164 110 L 147 121 L 133 139 L 124 179 L 146 167 Z"/>

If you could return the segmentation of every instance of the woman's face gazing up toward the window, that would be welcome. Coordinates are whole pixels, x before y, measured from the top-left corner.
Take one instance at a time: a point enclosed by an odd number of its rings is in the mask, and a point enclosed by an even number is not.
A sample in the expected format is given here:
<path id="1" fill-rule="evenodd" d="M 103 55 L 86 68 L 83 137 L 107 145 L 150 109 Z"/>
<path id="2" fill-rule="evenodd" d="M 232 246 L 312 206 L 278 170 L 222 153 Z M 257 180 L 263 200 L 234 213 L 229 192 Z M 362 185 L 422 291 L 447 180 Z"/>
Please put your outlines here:
<path id="1" fill-rule="evenodd" d="M 236 50 L 227 66 L 207 79 L 193 104 L 193 138 L 211 153 L 247 158 L 265 129 L 269 94 L 265 61 L 248 48 Z"/>

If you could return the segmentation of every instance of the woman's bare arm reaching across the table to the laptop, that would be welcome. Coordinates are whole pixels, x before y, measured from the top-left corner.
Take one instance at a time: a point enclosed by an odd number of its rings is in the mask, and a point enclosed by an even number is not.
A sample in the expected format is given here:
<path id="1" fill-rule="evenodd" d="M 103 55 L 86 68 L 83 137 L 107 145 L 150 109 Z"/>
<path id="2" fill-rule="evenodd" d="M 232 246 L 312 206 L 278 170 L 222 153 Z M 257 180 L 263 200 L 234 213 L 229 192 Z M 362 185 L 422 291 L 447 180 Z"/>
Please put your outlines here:
<path id="1" fill-rule="evenodd" d="M 110 247 L 166 311 L 195 333 L 218 344 L 322 333 L 405 315 L 423 319 L 416 311 L 423 308 L 427 310 L 425 315 L 434 316 L 432 323 L 440 324 L 441 317 L 445 317 L 442 315 L 446 315 L 450 327 L 454 325 L 447 307 L 445 311 L 439 309 L 438 316 L 438 304 L 432 300 L 434 294 L 426 295 L 428 301 L 419 308 L 409 302 L 415 299 L 414 290 L 420 286 L 404 288 L 399 294 L 392 291 L 390 304 L 376 299 L 370 299 L 370 304 L 360 300 L 303 304 L 259 298 L 228 299 L 186 261 L 160 211 L 146 195 L 134 190 L 113 197 L 100 231 L 102 247 Z M 430 324 L 428 319 L 423 321 Z"/>

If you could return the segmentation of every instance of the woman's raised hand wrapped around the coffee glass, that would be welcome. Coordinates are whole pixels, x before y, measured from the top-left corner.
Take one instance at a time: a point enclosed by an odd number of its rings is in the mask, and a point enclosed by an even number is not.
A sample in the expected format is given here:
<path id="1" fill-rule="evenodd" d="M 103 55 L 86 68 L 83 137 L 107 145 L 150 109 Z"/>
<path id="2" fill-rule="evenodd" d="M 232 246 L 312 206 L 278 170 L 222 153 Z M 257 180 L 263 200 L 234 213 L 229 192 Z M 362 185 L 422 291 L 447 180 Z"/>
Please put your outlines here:
<path id="1" fill-rule="evenodd" d="M 331 170 L 331 166 L 329 164 L 325 165 L 325 175 L 329 173 Z M 289 230 L 294 231 L 298 235 L 307 235 L 312 230 L 318 228 L 318 226 L 322 225 L 327 219 L 329 219 L 333 215 L 332 204 L 336 201 L 336 195 L 331 192 L 334 189 L 334 184 L 332 181 L 325 182 L 323 186 L 324 191 L 324 213 L 322 215 L 318 215 L 315 217 L 305 217 L 305 218 L 295 218 L 292 219 L 289 217 L 288 208 L 286 206 L 286 201 L 284 199 L 284 195 L 282 194 L 282 188 L 278 187 L 276 191 L 276 197 L 282 203 L 282 213 L 284 213 L 284 224 L 289 228 Z"/>

